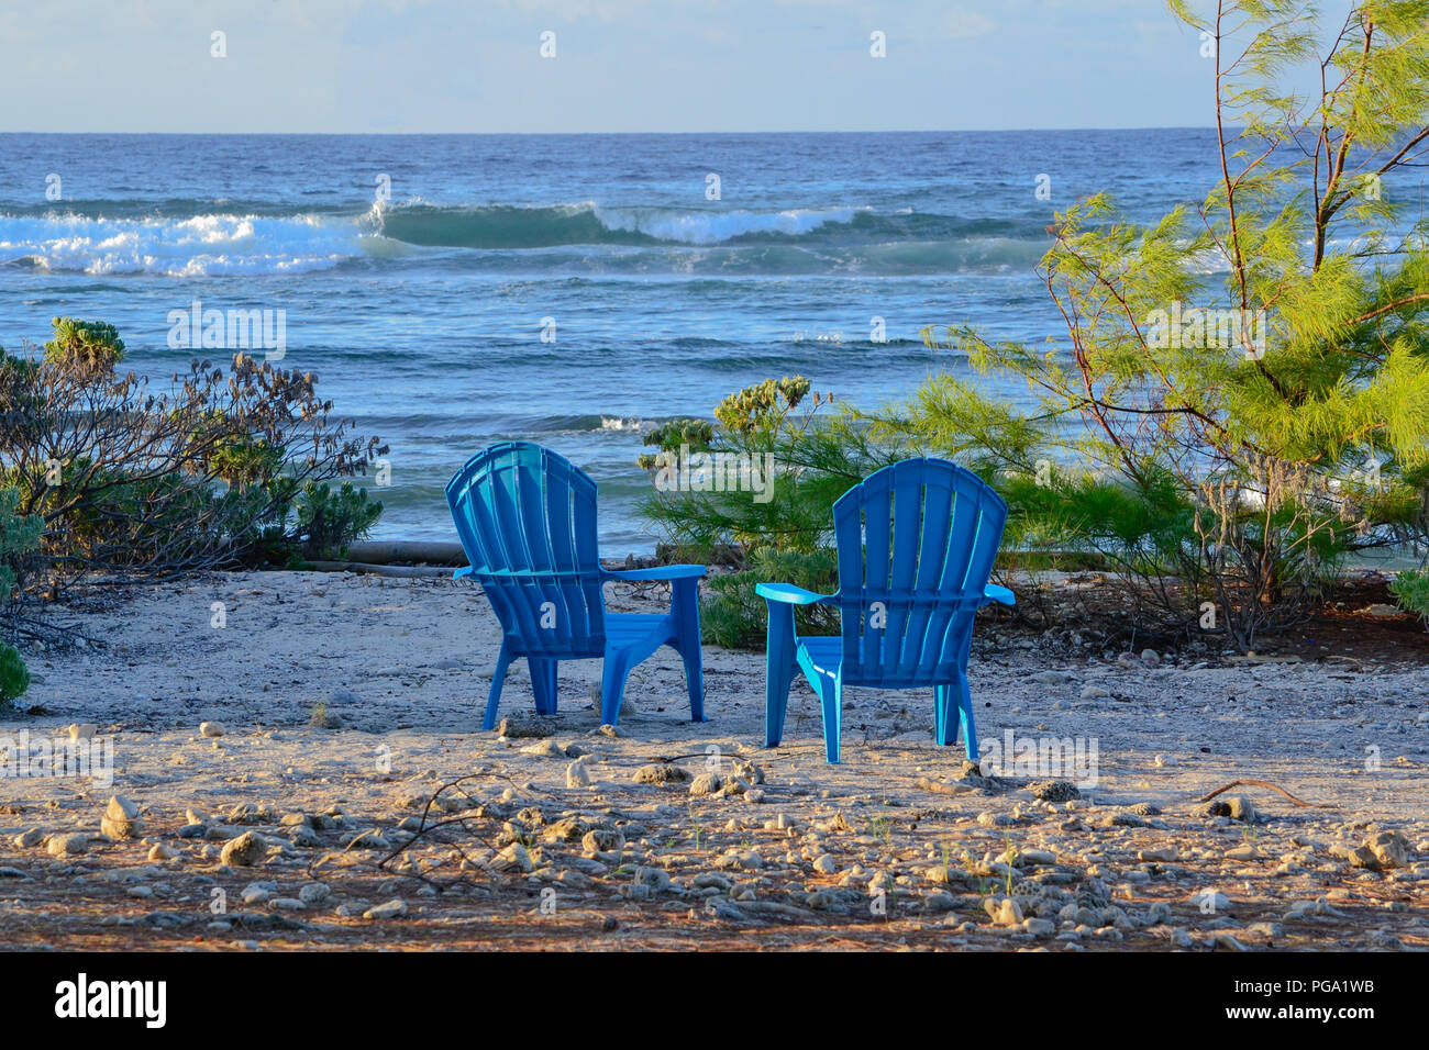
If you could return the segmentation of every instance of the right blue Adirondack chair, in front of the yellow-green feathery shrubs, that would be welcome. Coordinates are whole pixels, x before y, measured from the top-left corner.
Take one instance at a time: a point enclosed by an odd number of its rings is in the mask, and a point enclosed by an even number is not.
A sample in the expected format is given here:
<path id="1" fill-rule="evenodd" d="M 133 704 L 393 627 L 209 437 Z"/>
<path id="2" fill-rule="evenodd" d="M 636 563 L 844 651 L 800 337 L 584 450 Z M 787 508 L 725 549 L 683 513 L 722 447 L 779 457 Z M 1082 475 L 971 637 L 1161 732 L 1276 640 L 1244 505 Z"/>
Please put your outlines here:
<path id="1" fill-rule="evenodd" d="M 795 664 L 823 707 L 825 754 L 839 761 L 845 686 L 933 687 L 936 739 L 957 740 L 977 761 L 977 729 L 967 690 L 973 613 L 1015 603 L 987 584 L 1007 504 L 972 471 L 916 459 L 875 471 L 833 504 L 839 590 L 815 594 L 762 583 L 769 606 L 765 747 L 777 747 Z M 839 607 L 837 637 L 799 637 L 795 607 Z M 957 721 L 953 714 L 957 714 Z"/>

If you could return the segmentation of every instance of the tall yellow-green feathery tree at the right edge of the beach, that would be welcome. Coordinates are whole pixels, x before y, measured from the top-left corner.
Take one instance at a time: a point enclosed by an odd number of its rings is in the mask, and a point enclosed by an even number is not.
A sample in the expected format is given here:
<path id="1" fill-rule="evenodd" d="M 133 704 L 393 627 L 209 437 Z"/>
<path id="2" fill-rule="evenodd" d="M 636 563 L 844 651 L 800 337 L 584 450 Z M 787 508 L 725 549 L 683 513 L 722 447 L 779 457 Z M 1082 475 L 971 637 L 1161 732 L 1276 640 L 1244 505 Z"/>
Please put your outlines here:
<path id="1" fill-rule="evenodd" d="M 1249 647 L 1346 553 L 1426 537 L 1429 0 L 1338 27 L 1296 0 L 1170 7 L 1216 49 L 1219 183 L 1150 227 L 1105 196 L 1057 216 L 1065 339 L 925 331 L 1036 409 L 940 376 L 879 426 L 997 476 L 1013 541 L 1093 551 L 1149 621 Z M 1312 61 L 1322 91 L 1282 87 Z"/>

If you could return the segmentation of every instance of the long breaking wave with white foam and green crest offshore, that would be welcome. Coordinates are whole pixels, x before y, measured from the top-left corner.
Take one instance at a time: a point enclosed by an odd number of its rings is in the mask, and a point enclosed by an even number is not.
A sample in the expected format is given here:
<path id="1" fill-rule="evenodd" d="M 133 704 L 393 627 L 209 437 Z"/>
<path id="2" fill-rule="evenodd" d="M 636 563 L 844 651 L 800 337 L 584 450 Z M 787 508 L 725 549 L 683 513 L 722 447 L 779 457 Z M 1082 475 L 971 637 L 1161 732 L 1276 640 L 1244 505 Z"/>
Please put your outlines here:
<path id="1" fill-rule="evenodd" d="M 210 210 L 194 213 L 200 206 Z M 852 206 L 739 211 L 414 200 L 363 213 L 282 214 L 273 206 L 176 200 L 0 211 L 0 266 L 94 276 L 294 274 L 432 250 L 462 253 L 476 266 L 504 266 L 514 256 L 537 269 L 937 273 L 1030 263 L 1045 247 L 1045 233 L 1025 223 Z"/>

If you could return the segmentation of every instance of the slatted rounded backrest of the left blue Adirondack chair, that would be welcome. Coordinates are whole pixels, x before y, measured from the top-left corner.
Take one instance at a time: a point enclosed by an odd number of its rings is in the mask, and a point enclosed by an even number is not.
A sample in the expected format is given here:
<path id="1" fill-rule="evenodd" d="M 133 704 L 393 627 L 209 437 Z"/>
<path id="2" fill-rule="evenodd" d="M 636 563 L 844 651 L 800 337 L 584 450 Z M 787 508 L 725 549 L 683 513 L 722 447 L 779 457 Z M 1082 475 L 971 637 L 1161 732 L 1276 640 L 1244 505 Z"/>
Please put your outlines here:
<path id="1" fill-rule="evenodd" d="M 596 483 L 530 441 L 483 449 L 447 484 L 457 537 L 502 629 L 532 656 L 600 656 Z"/>

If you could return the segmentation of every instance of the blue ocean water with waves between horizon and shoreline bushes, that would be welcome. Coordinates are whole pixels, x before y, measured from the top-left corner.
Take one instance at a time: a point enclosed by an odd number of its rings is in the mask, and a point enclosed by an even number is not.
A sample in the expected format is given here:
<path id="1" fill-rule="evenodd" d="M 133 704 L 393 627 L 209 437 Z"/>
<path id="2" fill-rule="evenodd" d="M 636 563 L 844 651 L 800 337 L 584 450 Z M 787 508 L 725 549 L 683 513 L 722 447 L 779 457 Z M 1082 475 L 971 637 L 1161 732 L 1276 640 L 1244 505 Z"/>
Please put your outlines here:
<path id="1" fill-rule="evenodd" d="M 0 134 L 0 346 L 104 320 L 164 384 L 194 356 L 170 347 L 170 311 L 282 311 L 280 367 L 390 444 L 374 537 L 454 539 L 447 479 L 527 439 L 596 479 L 622 557 L 654 546 L 636 513 L 652 424 L 792 374 L 895 403 L 966 367 L 925 347 L 927 324 L 1059 336 L 1033 271 L 1053 211 L 1106 190 L 1150 221 L 1205 194 L 1213 146 L 1175 129 Z"/>

